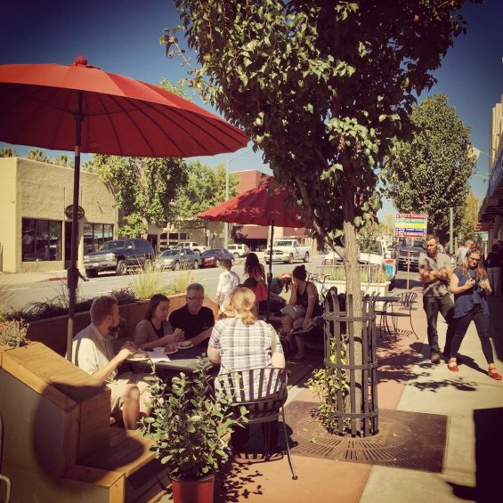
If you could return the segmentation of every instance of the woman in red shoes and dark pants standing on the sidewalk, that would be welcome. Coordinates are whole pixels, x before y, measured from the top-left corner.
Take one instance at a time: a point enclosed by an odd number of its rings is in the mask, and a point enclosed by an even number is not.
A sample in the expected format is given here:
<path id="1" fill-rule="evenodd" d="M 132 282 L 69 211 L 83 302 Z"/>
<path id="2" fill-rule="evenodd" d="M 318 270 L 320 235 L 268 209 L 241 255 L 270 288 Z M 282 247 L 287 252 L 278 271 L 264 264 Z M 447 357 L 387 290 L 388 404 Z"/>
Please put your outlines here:
<path id="1" fill-rule="evenodd" d="M 450 346 L 450 358 L 447 363 L 452 372 L 458 372 L 456 358 L 466 330 L 475 321 L 477 334 L 480 338 L 483 355 L 489 365 L 488 375 L 492 379 L 501 380 L 492 354 L 489 340 L 489 307 L 486 296 L 491 294 L 491 285 L 487 279 L 482 258 L 482 248 L 472 245 L 466 253 L 466 259 L 457 267 L 450 278 L 450 293 L 454 294 L 454 320 L 456 329 Z"/>

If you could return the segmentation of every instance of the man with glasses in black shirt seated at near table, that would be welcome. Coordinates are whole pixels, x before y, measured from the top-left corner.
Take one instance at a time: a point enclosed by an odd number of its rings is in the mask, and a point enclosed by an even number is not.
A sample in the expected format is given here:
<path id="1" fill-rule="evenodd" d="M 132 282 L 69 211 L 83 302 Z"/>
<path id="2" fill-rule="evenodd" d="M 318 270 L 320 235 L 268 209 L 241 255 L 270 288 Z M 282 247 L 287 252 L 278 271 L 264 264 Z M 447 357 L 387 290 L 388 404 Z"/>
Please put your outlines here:
<path id="1" fill-rule="evenodd" d="M 192 283 L 187 287 L 187 304 L 176 309 L 169 315 L 169 322 L 173 329 L 182 329 L 185 340 L 193 345 L 209 339 L 215 315 L 211 309 L 203 306 L 205 300 L 205 288 L 199 283 Z"/>

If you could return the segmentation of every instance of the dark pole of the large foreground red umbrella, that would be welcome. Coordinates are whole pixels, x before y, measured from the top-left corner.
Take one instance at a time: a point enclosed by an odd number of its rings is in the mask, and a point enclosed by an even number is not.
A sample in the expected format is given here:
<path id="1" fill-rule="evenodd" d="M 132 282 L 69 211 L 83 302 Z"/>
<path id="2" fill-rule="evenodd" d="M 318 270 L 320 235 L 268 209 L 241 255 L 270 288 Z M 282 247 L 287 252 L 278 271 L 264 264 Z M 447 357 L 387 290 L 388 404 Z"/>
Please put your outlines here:
<path id="1" fill-rule="evenodd" d="M 82 93 L 77 96 L 77 113 L 75 114 L 75 167 L 73 170 L 73 206 L 71 215 L 71 252 L 68 270 L 69 288 L 69 320 L 67 326 L 67 359 L 71 361 L 71 347 L 73 341 L 73 325 L 75 318 L 75 304 L 77 303 L 77 238 L 78 238 L 78 189 L 80 186 L 80 143 L 82 132 Z"/>

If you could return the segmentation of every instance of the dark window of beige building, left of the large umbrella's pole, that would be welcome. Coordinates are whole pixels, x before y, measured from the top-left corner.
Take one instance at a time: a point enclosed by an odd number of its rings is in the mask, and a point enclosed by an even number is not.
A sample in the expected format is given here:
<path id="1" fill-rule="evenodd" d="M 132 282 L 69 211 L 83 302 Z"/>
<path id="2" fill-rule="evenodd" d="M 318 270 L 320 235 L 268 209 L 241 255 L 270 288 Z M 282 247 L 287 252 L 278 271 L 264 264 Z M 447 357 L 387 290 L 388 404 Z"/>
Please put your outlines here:
<path id="1" fill-rule="evenodd" d="M 22 219 L 22 261 L 61 260 L 61 222 Z"/>

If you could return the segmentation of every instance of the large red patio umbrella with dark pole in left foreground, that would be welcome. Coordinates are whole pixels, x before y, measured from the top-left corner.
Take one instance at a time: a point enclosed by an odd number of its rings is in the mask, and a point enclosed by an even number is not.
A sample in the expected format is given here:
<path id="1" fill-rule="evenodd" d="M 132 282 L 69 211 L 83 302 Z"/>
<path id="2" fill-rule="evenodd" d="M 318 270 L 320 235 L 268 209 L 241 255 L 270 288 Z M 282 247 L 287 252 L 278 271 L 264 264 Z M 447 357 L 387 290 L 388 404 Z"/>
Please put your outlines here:
<path id="1" fill-rule="evenodd" d="M 77 288 L 80 152 L 191 157 L 232 152 L 247 135 L 155 85 L 105 73 L 83 57 L 69 66 L 0 65 L 0 142 L 75 149 L 67 357 Z"/>

